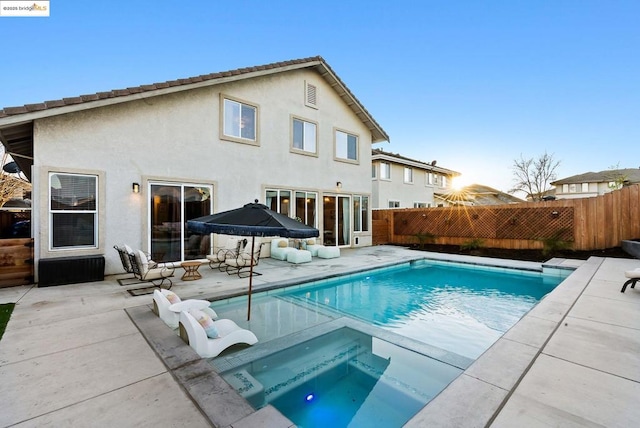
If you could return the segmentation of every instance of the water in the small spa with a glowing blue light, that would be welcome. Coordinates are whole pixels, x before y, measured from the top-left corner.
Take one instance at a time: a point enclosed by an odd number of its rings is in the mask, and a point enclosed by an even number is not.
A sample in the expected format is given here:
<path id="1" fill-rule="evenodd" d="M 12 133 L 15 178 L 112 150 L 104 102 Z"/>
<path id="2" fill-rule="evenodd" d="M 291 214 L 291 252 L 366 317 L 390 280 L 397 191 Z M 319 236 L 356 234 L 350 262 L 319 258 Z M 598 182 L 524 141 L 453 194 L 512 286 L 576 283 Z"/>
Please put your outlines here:
<path id="1" fill-rule="evenodd" d="M 399 427 L 460 373 L 341 328 L 222 376 L 254 407 L 270 403 L 299 427 Z"/>

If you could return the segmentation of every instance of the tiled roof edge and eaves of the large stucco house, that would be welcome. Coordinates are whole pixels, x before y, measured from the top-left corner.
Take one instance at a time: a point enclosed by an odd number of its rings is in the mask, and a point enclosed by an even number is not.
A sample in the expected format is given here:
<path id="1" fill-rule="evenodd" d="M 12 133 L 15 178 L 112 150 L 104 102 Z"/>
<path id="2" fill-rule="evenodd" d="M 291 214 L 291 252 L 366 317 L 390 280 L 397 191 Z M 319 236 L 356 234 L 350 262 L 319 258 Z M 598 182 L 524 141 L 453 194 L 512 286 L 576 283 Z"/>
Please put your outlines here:
<path id="1" fill-rule="evenodd" d="M 7 151 L 12 155 L 22 171 L 28 174 L 33 163 L 33 121 L 36 119 L 303 68 L 315 70 L 329 83 L 362 123 L 369 128 L 372 142 L 389 141 L 389 136 L 384 129 L 320 56 L 238 68 L 151 85 L 45 101 L 38 104 L 5 107 L 0 110 L 0 141 L 5 145 Z"/>

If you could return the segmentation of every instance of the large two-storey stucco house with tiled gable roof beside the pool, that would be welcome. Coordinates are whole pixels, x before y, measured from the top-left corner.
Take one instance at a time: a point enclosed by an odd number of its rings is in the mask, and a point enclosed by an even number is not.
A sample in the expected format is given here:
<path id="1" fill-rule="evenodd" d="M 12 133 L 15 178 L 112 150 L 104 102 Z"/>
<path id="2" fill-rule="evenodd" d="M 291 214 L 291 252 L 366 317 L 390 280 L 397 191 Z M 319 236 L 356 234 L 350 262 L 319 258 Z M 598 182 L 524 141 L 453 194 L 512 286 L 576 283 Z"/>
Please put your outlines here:
<path id="1" fill-rule="evenodd" d="M 114 244 L 203 257 L 186 221 L 254 199 L 325 245 L 371 245 L 371 144 L 388 139 L 321 57 L 0 110 L 36 262 L 104 255 L 107 274 Z"/>

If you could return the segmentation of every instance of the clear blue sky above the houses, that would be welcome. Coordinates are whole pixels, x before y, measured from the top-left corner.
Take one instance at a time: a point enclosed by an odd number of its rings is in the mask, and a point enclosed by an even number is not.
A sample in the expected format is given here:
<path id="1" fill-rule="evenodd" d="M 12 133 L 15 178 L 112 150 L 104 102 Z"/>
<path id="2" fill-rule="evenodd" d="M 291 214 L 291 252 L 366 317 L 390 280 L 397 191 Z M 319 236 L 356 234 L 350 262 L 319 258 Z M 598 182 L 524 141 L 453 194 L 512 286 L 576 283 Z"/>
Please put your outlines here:
<path id="1" fill-rule="evenodd" d="M 375 147 L 500 190 L 640 167 L 640 1 L 79 1 L 0 18 L 0 107 L 321 55 Z"/>

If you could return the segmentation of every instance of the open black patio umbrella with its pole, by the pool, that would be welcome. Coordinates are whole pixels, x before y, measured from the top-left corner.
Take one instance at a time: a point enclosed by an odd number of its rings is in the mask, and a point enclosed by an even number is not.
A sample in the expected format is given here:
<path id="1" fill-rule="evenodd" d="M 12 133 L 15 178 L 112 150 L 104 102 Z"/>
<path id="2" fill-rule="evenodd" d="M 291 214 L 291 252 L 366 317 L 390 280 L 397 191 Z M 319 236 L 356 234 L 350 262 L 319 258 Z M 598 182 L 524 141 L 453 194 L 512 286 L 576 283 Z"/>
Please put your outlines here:
<path id="1" fill-rule="evenodd" d="M 247 321 L 251 319 L 251 289 L 253 286 L 255 237 L 282 236 L 283 238 L 313 238 L 320 236 L 318 229 L 272 211 L 266 205 L 258 203 L 257 199 L 255 202 L 246 204 L 242 208 L 188 220 L 187 230 L 201 235 L 220 233 L 223 235 L 251 236 Z"/>

